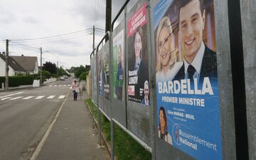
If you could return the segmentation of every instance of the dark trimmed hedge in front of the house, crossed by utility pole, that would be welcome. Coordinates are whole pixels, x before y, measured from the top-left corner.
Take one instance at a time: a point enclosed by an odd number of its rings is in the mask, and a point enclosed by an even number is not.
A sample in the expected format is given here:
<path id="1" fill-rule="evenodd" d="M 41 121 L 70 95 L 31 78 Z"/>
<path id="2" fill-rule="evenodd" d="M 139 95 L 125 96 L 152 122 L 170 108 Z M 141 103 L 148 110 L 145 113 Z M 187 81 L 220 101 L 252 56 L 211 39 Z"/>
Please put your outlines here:
<path id="1" fill-rule="evenodd" d="M 33 75 L 12 76 L 9 77 L 9 87 L 18 87 L 20 85 L 33 85 Z M 5 77 L 0 77 L 0 84 L 5 82 Z"/>

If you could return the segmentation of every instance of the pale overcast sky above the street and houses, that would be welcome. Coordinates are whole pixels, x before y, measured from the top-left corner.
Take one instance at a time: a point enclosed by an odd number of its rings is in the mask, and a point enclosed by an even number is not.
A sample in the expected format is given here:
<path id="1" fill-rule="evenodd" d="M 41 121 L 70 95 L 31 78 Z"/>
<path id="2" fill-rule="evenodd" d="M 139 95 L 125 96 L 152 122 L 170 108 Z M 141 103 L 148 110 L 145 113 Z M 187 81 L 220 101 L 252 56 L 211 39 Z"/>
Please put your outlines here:
<path id="1" fill-rule="evenodd" d="M 0 0 L 0 52 L 9 43 L 9 55 L 37 56 L 43 48 L 43 63 L 64 68 L 89 65 L 92 26 L 105 30 L 105 0 Z M 136 1 L 129 2 L 131 8 Z M 112 17 L 124 0 L 112 0 Z M 128 9 L 129 10 L 129 9 Z M 113 19 L 113 18 L 112 18 Z M 86 31 L 82 31 L 85 30 Z M 78 33 L 73 33 L 80 31 Z M 72 33 L 72 34 L 66 34 Z M 63 35 L 53 38 L 49 36 Z M 105 33 L 97 31 L 95 46 Z M 29 38 L 43 38 L 24 40 Z M 25 45 L 25 46 L 22 46 Z M 29 46 L 29 47 L 28 47 Z"/>

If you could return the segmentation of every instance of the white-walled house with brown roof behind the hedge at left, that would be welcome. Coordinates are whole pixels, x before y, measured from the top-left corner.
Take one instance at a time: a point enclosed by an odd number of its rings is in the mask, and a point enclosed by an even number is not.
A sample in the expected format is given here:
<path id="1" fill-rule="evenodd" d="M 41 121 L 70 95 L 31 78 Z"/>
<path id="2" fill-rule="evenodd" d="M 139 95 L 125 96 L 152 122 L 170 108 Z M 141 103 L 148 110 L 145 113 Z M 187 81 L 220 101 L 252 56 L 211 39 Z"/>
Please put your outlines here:
<path id="1" fill-rule="evenodd" d="M 6 75 L 6 56 L 0 54 L 0 76 Z M 9 56 L 9 76 L 38 74 L 37 57 Z"/>

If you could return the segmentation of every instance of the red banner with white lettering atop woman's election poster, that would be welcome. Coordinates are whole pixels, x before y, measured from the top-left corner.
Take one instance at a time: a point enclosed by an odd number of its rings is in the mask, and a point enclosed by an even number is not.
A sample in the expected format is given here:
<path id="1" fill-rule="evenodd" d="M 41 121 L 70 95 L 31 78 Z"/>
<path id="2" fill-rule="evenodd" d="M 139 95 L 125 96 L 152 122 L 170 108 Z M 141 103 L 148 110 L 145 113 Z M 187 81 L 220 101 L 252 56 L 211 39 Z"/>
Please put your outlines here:
<path id="1" fill-rule="evenodd" d="M 142 5 L 142 8 L 137 11 L 132 18 L 128 21 L 128 37 L 136 31 L 139 26 L 146 24 L 146 2 Z"/>

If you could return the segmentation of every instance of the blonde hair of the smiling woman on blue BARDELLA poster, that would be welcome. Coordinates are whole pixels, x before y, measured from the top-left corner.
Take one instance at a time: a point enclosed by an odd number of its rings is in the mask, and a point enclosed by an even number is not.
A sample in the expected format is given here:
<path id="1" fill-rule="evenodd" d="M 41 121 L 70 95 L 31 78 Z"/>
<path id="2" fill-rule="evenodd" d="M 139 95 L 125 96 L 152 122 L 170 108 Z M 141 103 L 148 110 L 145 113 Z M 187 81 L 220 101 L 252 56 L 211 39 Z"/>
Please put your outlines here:
<path id="1" fill-rule="evenodd" d="M 173 34 L 173 30 L 171 27 L 171 21 L 167 16 L 164 16 L 163 18 L 161 18 L 161 21 L 159 22 L 159 26 L 157 28 L 157 32 L 156 32 L 156 58 L 157 58 L 157 62 L 156 62 L 156 71 L 161 71 L 162 66 L 161 66 L 161 58 L 159 55 L 159 34 L 162 28 L 166 27 L 169 31 L 169 33 L 171 34 L 171 54 L 170 56 L 170 60 L 169 60 L 169 68 L 171 68 L 174 63 L 176 62 L 176 53 L 178 50 L 175 49 L 175 43 L 174 43 L 174 34 Z"/>

